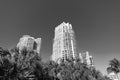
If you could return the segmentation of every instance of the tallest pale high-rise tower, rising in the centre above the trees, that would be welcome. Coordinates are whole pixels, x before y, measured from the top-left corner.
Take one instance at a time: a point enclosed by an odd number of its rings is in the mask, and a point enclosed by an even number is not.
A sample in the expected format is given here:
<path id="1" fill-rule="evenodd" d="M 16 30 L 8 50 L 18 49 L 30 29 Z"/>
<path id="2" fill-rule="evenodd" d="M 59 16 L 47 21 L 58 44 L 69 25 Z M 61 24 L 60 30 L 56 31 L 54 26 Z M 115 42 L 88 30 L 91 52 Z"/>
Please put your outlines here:
<path id="1" fill-rule="evenodd" d="M 61 59 L 65 61 L 68 58 L 75 58 L 76 54 L 76 41 L 72 25 L 63 22 L 55 28 L 51 58 L 53 61 L 59 62 Z"/>

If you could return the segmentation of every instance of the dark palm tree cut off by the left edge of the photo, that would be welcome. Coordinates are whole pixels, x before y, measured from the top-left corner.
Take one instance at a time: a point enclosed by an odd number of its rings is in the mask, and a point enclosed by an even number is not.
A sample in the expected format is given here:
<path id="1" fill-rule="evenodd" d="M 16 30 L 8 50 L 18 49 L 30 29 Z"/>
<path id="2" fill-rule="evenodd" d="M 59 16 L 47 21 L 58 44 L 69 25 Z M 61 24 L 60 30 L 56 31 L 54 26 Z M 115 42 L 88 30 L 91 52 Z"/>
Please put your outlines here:
<path id="1" fill-rule="evenodd" d="M 0 72 L 2 80 L 14 80 L 14 63 L 11 61 L 11 53 L 3 48 L 0 48 Z"/>

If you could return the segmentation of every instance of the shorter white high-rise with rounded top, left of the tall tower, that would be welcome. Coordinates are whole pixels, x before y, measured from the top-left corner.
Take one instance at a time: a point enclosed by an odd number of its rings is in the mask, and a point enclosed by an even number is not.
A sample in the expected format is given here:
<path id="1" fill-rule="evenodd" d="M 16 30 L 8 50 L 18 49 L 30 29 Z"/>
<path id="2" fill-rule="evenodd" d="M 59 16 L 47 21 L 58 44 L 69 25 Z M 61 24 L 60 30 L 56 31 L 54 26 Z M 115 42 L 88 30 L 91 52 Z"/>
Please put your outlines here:
<path id="1" fill-rule="evenodd" d="M 22 38 L 20 38 L 17 48 L 20 52 L 25 48 L 27 51 L 35 51 L 40 53 L 41 38 L 35 39 L 29 35 L 24 35 Z"/>

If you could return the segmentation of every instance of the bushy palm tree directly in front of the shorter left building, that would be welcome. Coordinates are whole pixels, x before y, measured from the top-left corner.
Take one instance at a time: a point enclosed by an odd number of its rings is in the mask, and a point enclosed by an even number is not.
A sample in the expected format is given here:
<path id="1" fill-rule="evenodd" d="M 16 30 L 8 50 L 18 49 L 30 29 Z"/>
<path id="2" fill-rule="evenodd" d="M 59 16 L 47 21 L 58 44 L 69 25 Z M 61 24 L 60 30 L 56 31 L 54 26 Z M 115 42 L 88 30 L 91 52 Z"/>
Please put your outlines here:
<path id="1" fill-rule="evenodd" d="M 31 77 L 37 77 L 36 72 L 39 71 L 41 58 L 34 51 L 23 49 L 21 52 L 14 48 L 11 50 L 11 61 L 14 63 L 13 71 L 16 72 L 17 79 L 23 80 Z M 39 73 L 38 73 L 39 75 Z"/>

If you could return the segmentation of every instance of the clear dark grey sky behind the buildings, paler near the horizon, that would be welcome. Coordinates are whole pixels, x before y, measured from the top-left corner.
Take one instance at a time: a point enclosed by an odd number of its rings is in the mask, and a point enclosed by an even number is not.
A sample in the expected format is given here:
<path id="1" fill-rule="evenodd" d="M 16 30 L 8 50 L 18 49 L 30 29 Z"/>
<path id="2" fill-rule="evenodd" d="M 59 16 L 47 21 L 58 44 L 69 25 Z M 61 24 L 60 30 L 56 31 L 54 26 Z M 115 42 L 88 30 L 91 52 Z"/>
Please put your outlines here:
<path id="1" fill-rule="evenodd" d="M 95 67 L 106 74 L 109 60 L 120 58 L 120 1 L 0 0 L 0 46 L 13 48 L 23 35 L 42 38 L 41 56 L 52 54 L 54 29 L 69 22 L 78 52 L 89 51 Z"/>

